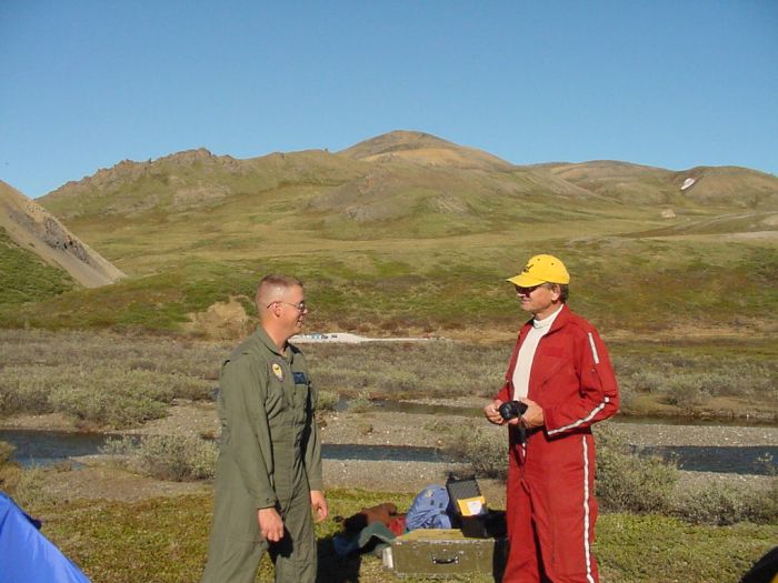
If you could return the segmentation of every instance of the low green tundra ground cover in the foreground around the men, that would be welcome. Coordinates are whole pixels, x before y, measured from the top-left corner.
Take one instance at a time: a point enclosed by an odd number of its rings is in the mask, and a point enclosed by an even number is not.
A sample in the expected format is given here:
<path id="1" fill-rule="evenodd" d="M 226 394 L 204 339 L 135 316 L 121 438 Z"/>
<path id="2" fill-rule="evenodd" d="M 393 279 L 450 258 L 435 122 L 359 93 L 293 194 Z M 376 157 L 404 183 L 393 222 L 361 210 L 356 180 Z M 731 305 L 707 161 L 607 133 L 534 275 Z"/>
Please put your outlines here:
<path id="1" fill-rule="evenodd" d="M 345 516 L 386 500 L 406 507 L 412 500 L 408 494 L 361 490 L 333 490 L 328 497 L 331 510 Z M 46 516 L 43 532 L 94 582 L 182 583 L 198 581 L 202 574 L 211 521 L 208 495 L 130 503 L 84 501 L 40 505 L 36 511 Z M 331 520 L 317 525 L 319 581 L 398 581 L 371 554 L 339 559 L 332 547 L 338 530 Z M 775 526 L 749 523 L 691 525 L 659 515 L 609 513 L 598 521 L 595 553 L 604 583 L 735 582 L 772 546 L 777 534 Z M 271 581 L 271 569 L 266 559 L 257 581 Z M 485 575 L 462 581 L 493 580 Z"/>

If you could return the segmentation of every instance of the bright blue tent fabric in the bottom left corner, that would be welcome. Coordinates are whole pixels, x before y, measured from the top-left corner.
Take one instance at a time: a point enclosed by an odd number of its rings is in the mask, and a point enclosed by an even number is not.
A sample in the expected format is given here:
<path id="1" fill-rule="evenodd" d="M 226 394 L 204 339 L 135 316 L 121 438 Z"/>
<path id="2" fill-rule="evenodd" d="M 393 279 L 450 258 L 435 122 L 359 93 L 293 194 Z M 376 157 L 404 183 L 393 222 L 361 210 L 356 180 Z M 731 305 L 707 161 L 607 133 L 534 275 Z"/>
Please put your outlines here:
<path id="1" fill-rule="evenodd" d="M 2 583 L 89 583 L 89 579 L 38 532 L 40 523 L 0 492 Z"/>

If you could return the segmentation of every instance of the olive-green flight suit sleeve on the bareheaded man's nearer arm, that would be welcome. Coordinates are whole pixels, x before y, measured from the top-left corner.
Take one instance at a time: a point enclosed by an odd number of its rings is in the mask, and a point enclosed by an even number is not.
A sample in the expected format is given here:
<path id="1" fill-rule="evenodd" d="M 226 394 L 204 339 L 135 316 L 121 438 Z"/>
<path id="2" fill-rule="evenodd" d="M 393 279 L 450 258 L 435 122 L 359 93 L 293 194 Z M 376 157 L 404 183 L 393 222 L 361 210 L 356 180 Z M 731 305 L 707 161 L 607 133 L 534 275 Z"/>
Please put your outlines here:
<path id="1" fill-rule="evenodd" d="M 242 487 L 258 509 L 275 506 L 272 443 L 263 406 L 268 391 L 267 368 L 249 355 L 241 355 L 222 366 L 220 389 L 229 432 L 227 446 Z"/>

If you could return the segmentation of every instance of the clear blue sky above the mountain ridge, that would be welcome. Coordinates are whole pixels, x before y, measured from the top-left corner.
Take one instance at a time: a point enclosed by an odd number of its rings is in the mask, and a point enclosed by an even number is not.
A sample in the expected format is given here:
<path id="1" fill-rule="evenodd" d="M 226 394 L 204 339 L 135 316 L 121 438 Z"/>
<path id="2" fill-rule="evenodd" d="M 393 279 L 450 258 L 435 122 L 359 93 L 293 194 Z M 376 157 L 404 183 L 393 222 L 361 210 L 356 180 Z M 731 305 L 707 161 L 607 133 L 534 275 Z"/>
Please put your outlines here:
<path id="1" fill-rule="evenodd" d="M 778 2 L 0 0 L 0 179 L 419 130 L 517 164 L 778 174 Z"/>

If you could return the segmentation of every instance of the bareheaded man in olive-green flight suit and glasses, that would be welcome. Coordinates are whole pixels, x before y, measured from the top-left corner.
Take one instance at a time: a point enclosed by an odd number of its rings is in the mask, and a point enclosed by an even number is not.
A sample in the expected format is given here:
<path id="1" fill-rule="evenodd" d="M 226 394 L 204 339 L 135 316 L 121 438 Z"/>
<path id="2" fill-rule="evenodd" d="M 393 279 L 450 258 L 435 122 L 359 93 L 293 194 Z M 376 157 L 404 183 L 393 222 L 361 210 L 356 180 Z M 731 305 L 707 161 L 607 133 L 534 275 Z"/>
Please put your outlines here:
<path id="1" fill-rule="evenodd" d="M 328 514 L 317 391 L 287 341 L 308 313 L 300 281 L 267 275 L 257 288 L 261 325 L 222 364 L 213 527 L 201 583 L 251 583 L 262 554 L 276 581 L 313 582 L 313 516 Z M 311 512 L 312 509 L 312 512 Z"/>

